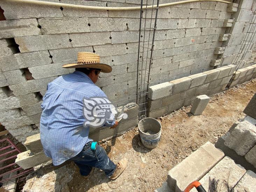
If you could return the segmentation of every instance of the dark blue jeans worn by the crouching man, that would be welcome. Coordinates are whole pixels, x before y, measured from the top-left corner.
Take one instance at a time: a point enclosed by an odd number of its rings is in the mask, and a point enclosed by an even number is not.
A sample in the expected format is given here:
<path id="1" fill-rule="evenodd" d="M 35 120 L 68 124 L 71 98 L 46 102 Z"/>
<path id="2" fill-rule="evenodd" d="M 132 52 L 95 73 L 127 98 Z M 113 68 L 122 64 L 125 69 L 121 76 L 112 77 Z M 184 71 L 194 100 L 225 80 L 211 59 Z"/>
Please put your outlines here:
<path id="1" fill-rule="evenodd" d="M 83 150 L 70 160 L 77 164 L 83 176 L 89 175 L 92 167 L 105 171 L 107 177 L 112 176 L 116 169 L 115 164 L 109 159 L 104 148 L 97 143 L 97 148 L 93 151 L 91 144 L 92 142 L 86 143 Z"/>

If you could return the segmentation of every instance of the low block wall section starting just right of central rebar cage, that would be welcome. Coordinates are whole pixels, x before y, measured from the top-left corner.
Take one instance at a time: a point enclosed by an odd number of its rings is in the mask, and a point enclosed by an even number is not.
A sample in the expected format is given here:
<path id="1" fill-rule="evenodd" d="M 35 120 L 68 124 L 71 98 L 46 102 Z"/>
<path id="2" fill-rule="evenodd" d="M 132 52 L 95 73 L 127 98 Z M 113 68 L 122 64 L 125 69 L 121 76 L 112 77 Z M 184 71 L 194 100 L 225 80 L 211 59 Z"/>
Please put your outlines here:
<path id="1" fill-rule="evenodd" d="M 148 111 L 150 117 L 169 114 L 182 106 L 190 105 L 201 94 L 212 95 L 225 89 L 234 65 L 183 77 L 149 87 Z"/>

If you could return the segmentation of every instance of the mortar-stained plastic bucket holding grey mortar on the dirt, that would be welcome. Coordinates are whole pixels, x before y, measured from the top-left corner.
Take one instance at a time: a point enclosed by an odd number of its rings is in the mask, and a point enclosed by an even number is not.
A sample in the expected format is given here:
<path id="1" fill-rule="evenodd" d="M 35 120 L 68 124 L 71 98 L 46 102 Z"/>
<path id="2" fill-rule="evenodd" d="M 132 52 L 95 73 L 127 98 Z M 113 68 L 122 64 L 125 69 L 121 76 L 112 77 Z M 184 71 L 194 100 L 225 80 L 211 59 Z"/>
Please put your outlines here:
<path id="1" fill-rule="evenodd" d="M 162 126 L 154 118 L 144 118 L 138 123 L 138 130 L 141 136 L 141 143 L 148 149 L 157 147 L 161 137 Z"/>

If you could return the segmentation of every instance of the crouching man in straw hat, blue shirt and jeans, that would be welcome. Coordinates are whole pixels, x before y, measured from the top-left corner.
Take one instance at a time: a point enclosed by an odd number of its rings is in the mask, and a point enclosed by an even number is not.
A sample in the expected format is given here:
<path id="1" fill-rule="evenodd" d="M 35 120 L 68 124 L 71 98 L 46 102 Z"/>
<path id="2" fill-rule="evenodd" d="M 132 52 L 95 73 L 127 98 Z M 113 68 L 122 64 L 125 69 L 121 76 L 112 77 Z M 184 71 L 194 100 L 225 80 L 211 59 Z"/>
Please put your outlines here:
<path id="1" fill-rule="evenodd" d="M 83 100 L 106 97 L 95 83 L 100 72 L 110 73 L 112 67 L 100 63 L 100 57 L 89 52 L 79 52 L 77 63 L 63 67 L 76 68 L 76 71 L 58 77 L 47 86 L 40 121 L 44 152 L 52 158 L 54 165 L 73 161 L 85 177 L 91 176 L 96 167 L 105 171 L 110 179 L 116 179 L 125 170 L 127 159 L 123 158 L 115 165 L 100 145 L 92 147 L 95 143 L 88 137 L 89 127 L 83 127 L 87 121 L 83 113 Z M 118 121 L 115 120 L 104 124 L 110 128 L 117 125 Z"/>

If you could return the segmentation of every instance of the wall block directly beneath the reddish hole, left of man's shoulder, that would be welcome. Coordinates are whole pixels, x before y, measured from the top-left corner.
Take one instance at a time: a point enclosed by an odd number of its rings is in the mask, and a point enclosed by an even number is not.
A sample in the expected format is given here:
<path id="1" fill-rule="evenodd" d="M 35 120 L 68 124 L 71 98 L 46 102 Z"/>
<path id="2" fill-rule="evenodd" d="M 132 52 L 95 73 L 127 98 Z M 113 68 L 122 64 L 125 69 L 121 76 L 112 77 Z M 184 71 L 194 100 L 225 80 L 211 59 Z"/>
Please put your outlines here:
<path id="1" fill-rule="evenodd" d="M 49 77 L 44 79 L 32 79 L 24 83 L 10 85 L 10 90 L 13 91 L 15 96 L 26 95 L 28 93 L 35 93 L 38 91 L 46 90 L 48 83 L 53 81 L 56 77 Z"/>

